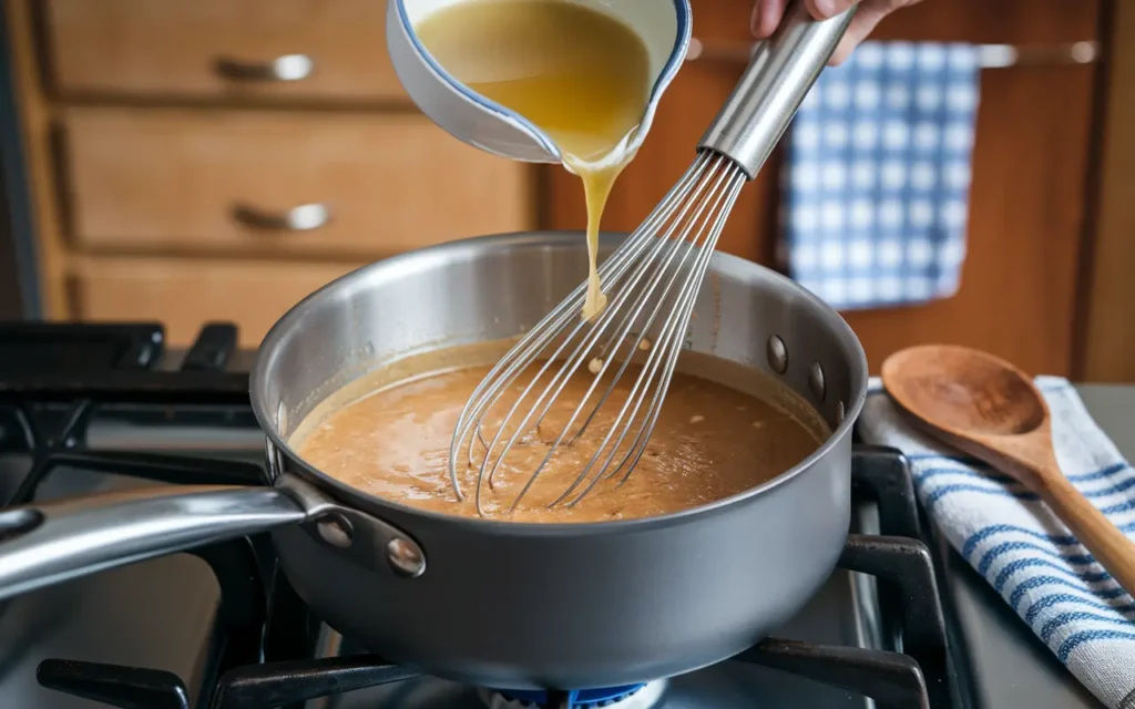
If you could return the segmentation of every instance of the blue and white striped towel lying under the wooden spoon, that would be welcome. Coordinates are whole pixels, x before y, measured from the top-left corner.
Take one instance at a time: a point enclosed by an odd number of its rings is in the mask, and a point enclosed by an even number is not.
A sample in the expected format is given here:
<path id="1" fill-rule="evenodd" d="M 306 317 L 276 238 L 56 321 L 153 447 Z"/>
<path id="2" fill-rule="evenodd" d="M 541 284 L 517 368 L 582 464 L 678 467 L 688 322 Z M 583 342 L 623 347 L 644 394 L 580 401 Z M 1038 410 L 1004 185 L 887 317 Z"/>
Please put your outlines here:
<path id="1" fill-rule="evenodd" d="M 1135 540 L 1135 470 L 1067 380 L 1036 383 L 1065 475 Z M 1108 707 L 1135 708 L 1135 600 L 1034 493 L 911 429 L 881 389 L 872 382 L 864 440 L 908 456 L 927 514 L 1084 686 Z"/>

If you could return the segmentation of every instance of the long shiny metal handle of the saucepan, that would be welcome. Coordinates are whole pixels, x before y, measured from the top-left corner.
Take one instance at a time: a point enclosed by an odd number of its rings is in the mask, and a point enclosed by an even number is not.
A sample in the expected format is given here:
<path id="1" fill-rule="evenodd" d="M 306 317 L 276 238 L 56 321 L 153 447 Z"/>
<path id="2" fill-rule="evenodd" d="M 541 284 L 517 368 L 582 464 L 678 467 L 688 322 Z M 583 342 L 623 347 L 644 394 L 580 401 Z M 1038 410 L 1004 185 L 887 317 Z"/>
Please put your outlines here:
<path id="1" fill-rule="evenodd" d="M 107 568 L 309 518 L 277 488 L 177 486 L 0 512 L 0 600 Z"/>

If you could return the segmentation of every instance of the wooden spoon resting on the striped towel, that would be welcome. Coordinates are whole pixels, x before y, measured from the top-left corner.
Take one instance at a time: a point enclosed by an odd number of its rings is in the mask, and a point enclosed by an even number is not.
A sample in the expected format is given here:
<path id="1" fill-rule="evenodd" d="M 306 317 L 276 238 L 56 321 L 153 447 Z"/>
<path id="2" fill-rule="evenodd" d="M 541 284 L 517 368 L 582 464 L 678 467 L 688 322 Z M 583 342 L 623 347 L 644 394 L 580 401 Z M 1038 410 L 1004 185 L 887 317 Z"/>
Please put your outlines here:
<path id="1" fill-rule="evenodd" d="M 968 347 L 924 345 L 888 357 L 883 386 L 922 429 L 1040 496 L 1135 596 L 1135 543 L 1060 472 L 1049 407 L 1024 372 Z"/>

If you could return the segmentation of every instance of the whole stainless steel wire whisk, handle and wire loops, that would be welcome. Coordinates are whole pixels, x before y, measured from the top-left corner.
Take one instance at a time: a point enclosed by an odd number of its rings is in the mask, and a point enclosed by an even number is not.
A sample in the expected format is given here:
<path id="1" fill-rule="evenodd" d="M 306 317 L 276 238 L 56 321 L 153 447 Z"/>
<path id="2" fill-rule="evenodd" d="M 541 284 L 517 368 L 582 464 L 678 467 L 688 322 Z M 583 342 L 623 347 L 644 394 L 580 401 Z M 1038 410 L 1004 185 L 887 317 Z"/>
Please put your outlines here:
<path id="1" fill-rule="evenodd" d="M 585 321 L 587 284 L 581 284 L 485 377 L 459 416 L 449 449 L 449 479 L 459 499 L 465 499 L 461 471 L 476 466 L 474 500 L 486 516 L 484 490 L 496 489 L 508 455 L 518 446 L 537 455 L 544 450 L 508 507 L 514 510 L 555 456 L 585 434 L 585 456 L 590 455 L 548 507 L 575 506 L 603 481 L 621 484 L 632 473 L 658 420 L 738 195 L 779 142 L 852 12 L 814 22 L 798 2 L 754 53 L 693 163 L 599 267 L 606 307 Z M 586 385 L 586 390 L 578 403 L 569 402 L 566 421 L 549 420 L 557 403 L 564 408 L 561 397 L 577 378 L 583 382 L 574 387 Z M 515 398 L 506 397 L 516 391 Z M 498 407 L 506 408 L 499 419 Z"/>

